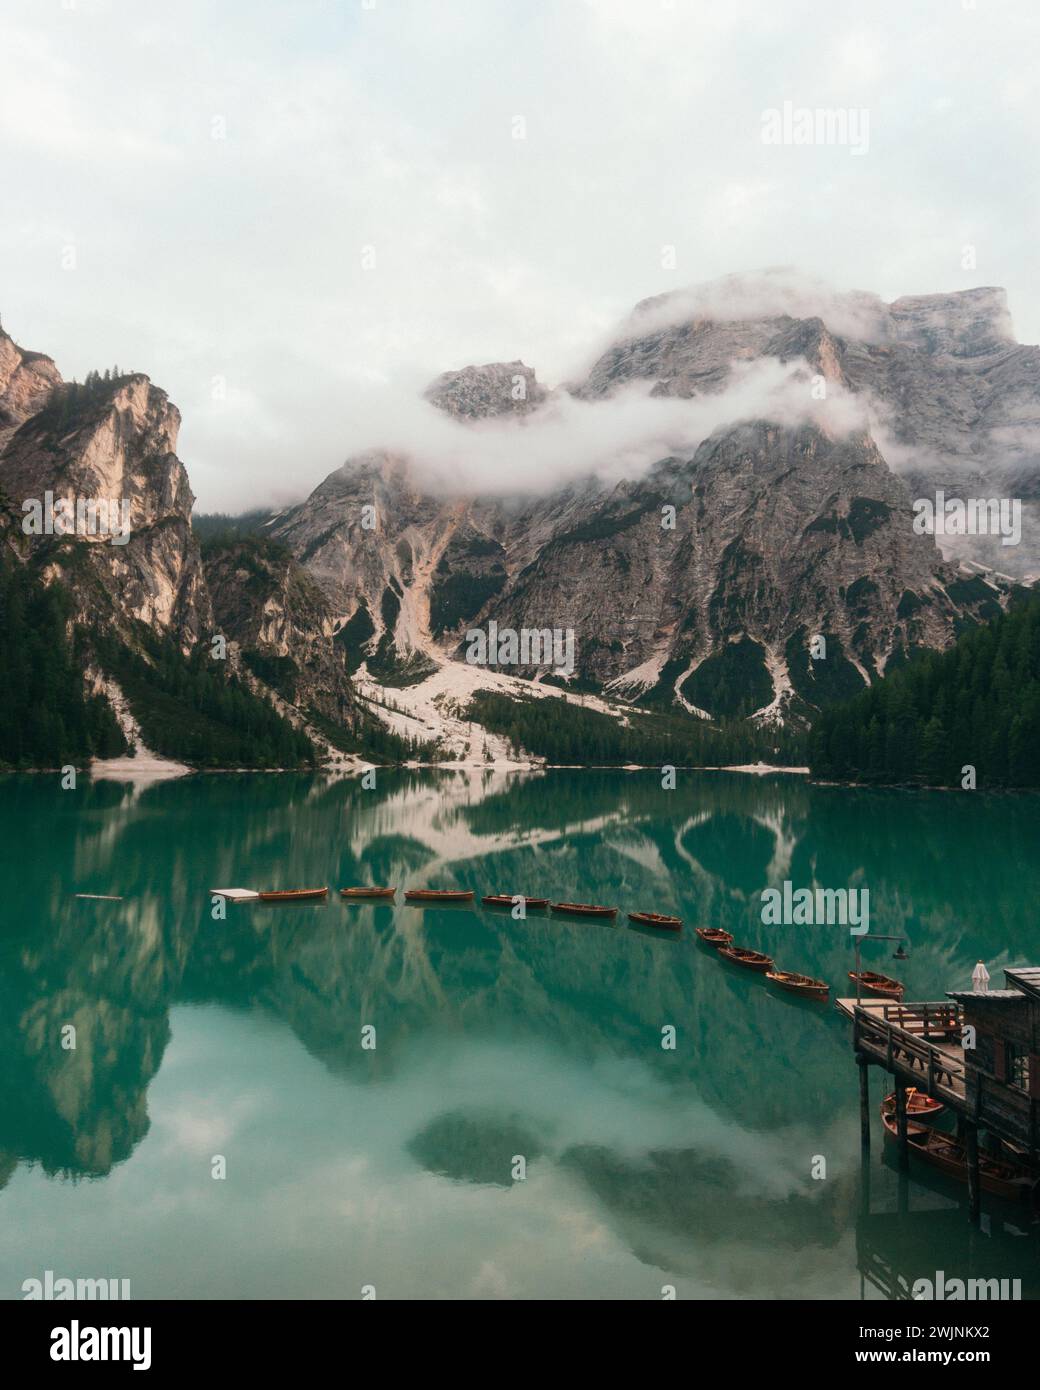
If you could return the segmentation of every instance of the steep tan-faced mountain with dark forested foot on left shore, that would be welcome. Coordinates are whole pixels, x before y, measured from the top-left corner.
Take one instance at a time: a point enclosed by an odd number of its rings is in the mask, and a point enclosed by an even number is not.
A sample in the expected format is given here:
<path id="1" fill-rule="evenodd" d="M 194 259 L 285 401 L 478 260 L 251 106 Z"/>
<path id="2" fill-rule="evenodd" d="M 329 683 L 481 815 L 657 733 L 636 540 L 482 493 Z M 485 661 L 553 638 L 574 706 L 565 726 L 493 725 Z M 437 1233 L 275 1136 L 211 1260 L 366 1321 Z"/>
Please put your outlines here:
<path id="1" fill-rule="evenodd" d="M 231 567 L 220 612 L 235 631 L 221 632 L 177 457 L 181 417 L 164 391 L 118 368 L 65 382 L 49 357 L 0 332 L 0 621 L 11 653 L 0 762 L 81 763 L 128 745 L 203 766 L 295 766 L 331 752 L 328 731 L 279 694 L 274 667 L 256 674 L 241 660 L 243 637 L 257 662 L 277 662 L 285 631 L 273 614 L 289 595 L 306 596 L 289 621 L 314 667 L 299 694 L 328 713 L 334 735 L 341 721 L 345 739 L 356 735 L 324 599 L 291 556 L 292 575 L 264 577 L 267 614 L 253 630 L 256 577 Z M 306 652 L 314 639 L 320 656 Z"/>

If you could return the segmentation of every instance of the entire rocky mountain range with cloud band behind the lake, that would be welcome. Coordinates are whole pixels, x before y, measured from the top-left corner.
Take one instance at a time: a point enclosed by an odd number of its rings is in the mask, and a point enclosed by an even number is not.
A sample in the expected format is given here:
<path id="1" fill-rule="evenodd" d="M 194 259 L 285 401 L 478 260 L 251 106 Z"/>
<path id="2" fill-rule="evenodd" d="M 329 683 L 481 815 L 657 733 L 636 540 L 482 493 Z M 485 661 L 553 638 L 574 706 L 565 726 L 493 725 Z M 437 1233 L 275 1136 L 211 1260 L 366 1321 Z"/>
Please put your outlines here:
<path id="1" fill-rule="evenodd" d="M 61 649 L 0 687 L 32 727 L 0 759 L 122 741 L 206 766 L 526 760 L 523 737 L 551 756 L 583 730 L 610 758 L 783 756 L 781 727 L 1029 582 L 1040 350 L 1002 291 L 886 304 L 727 279 L 638 304 L 566 385 L 469 366 L 421 409 L 417 445 L 370 448 L 275 516 L 209 518 L 203 550 L 165 392 L 118 368 L 65 382 L 0 329 L 7 635 L 28 651 L 32 612 Z M 941 537 L 944 556 L 915 525 L 937 489 L 1016 489 L 1022 545 Z M 74 534 L 51 525 L 83 503 Z M 527 638 L 505 666 L 466 660 L 492 623 Z"/>

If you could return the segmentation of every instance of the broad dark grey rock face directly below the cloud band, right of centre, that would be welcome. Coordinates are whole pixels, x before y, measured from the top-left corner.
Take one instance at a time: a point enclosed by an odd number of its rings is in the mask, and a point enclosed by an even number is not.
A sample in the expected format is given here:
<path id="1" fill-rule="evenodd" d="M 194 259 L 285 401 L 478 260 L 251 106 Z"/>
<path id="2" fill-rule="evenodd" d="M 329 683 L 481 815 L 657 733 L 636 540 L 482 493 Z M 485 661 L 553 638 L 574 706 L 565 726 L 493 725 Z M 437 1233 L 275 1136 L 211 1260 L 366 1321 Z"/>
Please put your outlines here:
<path id="1" fill-rule="evenodd" d="M 666 503 L 674 531 L 660 525 Z M 894 652 L 954 631 L 958 606 L 934 550 L 901 524 L 905 510 L 868 436 L 740 425 L 558 530 L 499 621 L 539 627 L 552 612 L 581 634 L 583 676 L 656 703 L 710 714 L 793 692 L 816 703 L 823 673 L 862 684 Z M 809 660 L 815 634 L 826 664 Z"/>

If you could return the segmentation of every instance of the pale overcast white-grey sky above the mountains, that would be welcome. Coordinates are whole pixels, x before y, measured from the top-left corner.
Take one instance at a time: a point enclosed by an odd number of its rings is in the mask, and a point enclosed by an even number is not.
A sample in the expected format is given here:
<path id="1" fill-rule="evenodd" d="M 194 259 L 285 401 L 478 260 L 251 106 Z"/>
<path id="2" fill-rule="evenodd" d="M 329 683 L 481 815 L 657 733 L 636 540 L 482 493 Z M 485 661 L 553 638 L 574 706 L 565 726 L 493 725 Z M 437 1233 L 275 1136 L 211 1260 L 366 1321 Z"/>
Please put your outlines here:
<path id="1" fill-rule="evenodd" d="M 1037 53 L 1036 0 L 0 0 L 0 313 L 167 389 L 207 510 L 731 271 L 1004 285 L 1037 342 Z M 765 143 L 786 101 L 862 153 Z"/>

